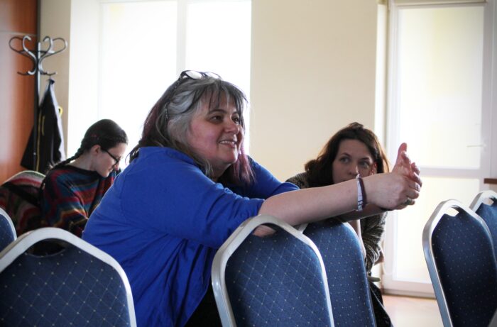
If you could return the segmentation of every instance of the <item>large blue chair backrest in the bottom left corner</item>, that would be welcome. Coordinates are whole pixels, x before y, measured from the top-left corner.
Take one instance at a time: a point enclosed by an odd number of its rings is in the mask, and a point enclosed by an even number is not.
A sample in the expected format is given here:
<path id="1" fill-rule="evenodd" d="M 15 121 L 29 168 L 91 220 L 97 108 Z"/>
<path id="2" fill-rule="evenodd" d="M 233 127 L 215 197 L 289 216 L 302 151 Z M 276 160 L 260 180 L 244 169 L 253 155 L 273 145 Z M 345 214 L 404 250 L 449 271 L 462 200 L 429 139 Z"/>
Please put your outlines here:
<path id="1" fill-rule="evenodd" d="M 47 240 L 63 250 L 29 253 Z M 0 252 L 0 289 L 0 326 L 136 326 L 119 263 L 60 228 L 25 233 Z"/>

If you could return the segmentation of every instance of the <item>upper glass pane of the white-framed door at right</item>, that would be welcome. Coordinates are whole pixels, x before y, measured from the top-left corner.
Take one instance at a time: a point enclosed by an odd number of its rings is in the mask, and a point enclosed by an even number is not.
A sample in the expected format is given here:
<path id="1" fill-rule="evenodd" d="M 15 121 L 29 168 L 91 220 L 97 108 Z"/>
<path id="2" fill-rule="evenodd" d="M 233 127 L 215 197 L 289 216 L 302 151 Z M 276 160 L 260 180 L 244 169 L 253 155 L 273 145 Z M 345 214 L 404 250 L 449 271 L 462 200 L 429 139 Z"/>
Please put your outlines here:
<path id="1" fill-rule="evenodd" d="M 399 138 L 423 167 L 478 169 L 484 7 L 405 9 L 399 22 Z"/>

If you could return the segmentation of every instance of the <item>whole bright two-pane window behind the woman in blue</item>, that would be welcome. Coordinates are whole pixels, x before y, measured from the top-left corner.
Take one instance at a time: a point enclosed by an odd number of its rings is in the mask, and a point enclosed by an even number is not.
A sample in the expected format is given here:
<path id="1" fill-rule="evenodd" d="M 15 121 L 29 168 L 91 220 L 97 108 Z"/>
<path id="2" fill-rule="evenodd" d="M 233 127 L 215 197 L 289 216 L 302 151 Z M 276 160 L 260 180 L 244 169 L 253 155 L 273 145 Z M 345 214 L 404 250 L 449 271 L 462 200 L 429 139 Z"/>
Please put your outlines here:
<path id="1" fill-rule="evenodd" d="M 249 96 L 250 0 L 101 0 L 96 8 L 98 109 L 74 125 L 111 118 L 128 134 L 131 150 L 148 111 L 182 70 L 217 72 Z M 69 153 L 75 153 L 81 138 L 71 136 Z"/>

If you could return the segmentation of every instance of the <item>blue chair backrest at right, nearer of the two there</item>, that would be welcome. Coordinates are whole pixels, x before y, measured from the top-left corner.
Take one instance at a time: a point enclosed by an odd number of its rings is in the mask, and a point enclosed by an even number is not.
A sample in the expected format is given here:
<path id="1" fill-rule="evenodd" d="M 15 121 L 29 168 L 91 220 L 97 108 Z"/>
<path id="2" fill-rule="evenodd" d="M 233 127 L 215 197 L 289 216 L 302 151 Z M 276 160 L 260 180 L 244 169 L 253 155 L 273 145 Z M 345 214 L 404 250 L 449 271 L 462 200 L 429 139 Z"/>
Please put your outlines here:
<path id="1" fill-rule="evenodd" d="M 497 309 L 497 265 L 484 221 L 459 201 L 443 201 L 422 244 L 444 326 L 488 326 Z"/>

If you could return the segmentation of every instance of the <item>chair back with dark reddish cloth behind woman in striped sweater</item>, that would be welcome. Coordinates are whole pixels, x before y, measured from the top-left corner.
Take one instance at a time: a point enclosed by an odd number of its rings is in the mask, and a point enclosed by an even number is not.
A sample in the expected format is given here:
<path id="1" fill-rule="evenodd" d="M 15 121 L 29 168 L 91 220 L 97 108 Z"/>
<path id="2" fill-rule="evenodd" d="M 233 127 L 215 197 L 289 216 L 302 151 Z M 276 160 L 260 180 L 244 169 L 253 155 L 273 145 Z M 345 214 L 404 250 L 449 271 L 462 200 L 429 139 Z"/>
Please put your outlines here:
<path id="1" fill-rule="evenodd" d="M 24 170 L 0 185 L 0 208 L 11 217 L 17 235 L 43 227 L 38 204 L 43 178 L 40 172 Z"/>

